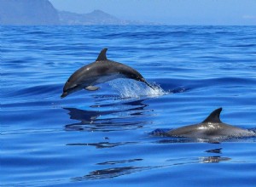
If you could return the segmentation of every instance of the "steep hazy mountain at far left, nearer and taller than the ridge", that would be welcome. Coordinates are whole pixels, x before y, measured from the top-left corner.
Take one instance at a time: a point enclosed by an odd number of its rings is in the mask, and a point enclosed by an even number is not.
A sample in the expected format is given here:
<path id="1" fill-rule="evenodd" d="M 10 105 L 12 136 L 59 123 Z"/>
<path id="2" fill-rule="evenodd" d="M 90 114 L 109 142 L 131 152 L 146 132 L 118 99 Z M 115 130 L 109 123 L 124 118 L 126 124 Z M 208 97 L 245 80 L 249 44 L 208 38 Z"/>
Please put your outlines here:
<path id="1" fill-rule="evenodd" d="M 58 11 L 48 0 L 0 0 L 0 25 L 59 25 Z"/>

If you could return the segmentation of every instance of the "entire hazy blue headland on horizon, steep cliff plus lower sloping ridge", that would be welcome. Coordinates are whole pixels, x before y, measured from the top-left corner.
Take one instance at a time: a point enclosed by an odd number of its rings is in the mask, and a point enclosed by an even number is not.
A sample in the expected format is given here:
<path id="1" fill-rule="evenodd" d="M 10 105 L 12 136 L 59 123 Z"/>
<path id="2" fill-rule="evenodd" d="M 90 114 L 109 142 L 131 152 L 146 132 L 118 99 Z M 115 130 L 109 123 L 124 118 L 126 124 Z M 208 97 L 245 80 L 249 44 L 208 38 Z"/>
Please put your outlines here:
<path id="1" fill-rule="evenodd" d="M 120 20 L 102 10 L 76 14 L 57 10 L 49 0 L 0 0 L 2 26 L 93 26 L 156 25 L 144 21 Z"/>

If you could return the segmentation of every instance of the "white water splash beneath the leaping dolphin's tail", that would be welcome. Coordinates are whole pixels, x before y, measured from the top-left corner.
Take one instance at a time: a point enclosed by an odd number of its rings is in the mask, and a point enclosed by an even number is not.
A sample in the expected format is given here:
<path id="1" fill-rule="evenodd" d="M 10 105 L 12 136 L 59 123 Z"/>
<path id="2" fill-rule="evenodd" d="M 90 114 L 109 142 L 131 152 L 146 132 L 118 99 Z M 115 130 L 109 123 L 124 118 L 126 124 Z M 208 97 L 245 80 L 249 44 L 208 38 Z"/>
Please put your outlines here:
<path id="1" fill-rule="evenodd" d="M 119 93 L 121 98 L 140 98 L 140 97 L 155 97 L 165 94 L 170 94 L 166 92 L 160 85 L 153 83 L 151 86 L 154 88 L 149 88 L 143 82 L 135 82 L 130 79 L 115 79 L 108 84 Z"/>

